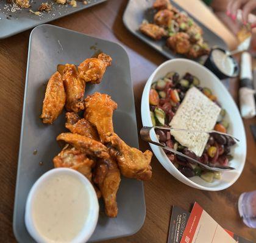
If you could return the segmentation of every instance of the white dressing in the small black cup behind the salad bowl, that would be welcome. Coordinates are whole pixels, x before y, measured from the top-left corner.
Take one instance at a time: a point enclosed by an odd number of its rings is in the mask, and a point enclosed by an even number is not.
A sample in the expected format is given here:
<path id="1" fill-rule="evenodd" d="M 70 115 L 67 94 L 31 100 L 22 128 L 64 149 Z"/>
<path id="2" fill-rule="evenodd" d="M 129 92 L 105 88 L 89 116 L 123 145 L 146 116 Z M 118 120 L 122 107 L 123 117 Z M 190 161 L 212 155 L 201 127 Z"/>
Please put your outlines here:
<path id="1" fill-rule="evenodd" d="M 223 74 L 228 76 L 232 76 L 234 74 L 235 64 L 232 58 L 227 56 L 225 52 L 219 49 L 215 49 L 212 51 L 212 58 L 215 65 L 219 70 L 221 70 Z"/>

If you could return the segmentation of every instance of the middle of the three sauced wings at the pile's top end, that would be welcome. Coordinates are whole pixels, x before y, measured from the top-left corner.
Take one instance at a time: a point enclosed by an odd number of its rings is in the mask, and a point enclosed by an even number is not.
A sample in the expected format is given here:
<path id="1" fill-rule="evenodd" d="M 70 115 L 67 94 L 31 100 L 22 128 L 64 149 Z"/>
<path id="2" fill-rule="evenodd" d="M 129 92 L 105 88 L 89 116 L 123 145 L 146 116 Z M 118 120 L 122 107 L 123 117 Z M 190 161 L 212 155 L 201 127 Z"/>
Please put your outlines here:
<path id="1" fill-rule="evenodd" d="M 63 70 L 66 92 L 66 110 L 79 112 L 84 109 L 85 81 L 79 78 L 76 66 L 66 64 Z"/>

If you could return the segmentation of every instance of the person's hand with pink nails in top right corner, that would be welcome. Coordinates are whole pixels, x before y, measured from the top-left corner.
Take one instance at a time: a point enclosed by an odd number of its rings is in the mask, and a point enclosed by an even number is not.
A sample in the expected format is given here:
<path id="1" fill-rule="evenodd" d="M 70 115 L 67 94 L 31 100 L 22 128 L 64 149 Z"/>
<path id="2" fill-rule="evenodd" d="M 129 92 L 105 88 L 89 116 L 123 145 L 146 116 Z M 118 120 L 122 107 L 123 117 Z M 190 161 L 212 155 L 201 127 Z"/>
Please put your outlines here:
<path id="1" fill-rule="evenodd" d="M 256 9 L 256 0 L 230 0 L 227 4 L 227 15 L 235 20 L 238 9 L 242 10 L 243 23 L 247 24 L 249 13 Z M 256 27 L 256 22 L 251 27 Z"/>

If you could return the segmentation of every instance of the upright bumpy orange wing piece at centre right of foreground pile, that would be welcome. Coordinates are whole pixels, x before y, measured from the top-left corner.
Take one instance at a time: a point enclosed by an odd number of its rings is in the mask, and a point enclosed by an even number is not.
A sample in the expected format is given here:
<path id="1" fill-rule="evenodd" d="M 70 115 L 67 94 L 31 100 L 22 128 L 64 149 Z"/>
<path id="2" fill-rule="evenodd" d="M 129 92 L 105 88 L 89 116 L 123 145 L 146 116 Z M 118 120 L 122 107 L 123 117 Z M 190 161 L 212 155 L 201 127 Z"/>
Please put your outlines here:
<path id="1" fill-rule="evenodd" d="M 101 142 L 109 132 L 114 132 L 112 117 L 116 108 L 117 104 L 107 94 L 95 92 L 85 99 L 84 117 L 96 127 Z"/>

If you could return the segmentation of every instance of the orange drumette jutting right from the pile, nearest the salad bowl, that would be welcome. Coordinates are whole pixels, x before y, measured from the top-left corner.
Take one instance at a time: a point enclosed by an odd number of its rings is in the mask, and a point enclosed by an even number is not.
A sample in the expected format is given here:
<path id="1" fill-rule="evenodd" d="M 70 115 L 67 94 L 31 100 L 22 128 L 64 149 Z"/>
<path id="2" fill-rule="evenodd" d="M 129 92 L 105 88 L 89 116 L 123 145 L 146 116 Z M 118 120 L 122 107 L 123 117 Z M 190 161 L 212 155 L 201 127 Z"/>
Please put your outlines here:
<path id="1" fill-rule="evenodd" d="M 152 152 L 141 152 L 137 148 L 131 148 L 116 134 L 108 134 L 110 155 L 115 157 L 121 174 L 138 180 L 149 180 L 152 176 L 151 157 Z"/>

